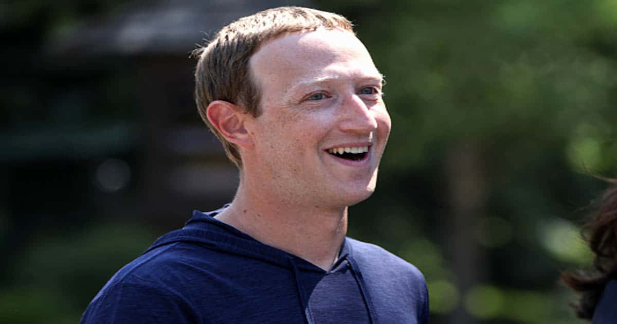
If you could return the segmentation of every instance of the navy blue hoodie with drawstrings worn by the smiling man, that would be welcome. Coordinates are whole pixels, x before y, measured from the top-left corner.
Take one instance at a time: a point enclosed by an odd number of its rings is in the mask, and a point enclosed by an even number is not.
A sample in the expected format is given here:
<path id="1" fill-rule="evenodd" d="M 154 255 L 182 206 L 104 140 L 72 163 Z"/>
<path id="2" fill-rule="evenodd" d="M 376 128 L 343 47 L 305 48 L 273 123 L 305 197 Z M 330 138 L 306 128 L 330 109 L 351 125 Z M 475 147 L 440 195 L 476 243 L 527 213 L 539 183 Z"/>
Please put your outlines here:
<path id="1" fill-rule="evenodd" d="M 428 323 L 420 271 L 344 239 L 325 271 L 194 212 L 94 297 L 81 323 Z"/>

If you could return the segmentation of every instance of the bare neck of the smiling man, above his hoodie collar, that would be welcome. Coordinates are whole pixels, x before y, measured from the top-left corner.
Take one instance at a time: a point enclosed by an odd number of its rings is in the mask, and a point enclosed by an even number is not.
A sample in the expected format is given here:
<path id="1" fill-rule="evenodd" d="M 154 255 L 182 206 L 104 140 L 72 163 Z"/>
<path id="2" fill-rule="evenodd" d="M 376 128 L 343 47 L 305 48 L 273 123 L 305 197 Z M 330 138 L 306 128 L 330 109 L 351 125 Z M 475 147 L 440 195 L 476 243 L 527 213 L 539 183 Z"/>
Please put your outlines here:
<path id="1" fill-rule="evenodd" d="M 329 270 L 347 234 L 347 207 L 302 206 L 266 196 L 252 194 L 241 181 L 231 206 L 216 218 L 257 241 Z"/>

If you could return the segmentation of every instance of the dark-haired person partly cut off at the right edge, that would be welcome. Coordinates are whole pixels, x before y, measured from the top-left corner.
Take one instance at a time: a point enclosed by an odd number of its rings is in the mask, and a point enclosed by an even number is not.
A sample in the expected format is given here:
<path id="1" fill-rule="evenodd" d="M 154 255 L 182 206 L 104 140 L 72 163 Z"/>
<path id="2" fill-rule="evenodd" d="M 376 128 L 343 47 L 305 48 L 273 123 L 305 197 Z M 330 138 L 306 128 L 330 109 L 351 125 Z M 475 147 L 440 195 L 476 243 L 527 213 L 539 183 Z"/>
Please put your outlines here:
<path id="1" fill-rule="evenodd" d="M 595 202 L 591 220 L 582 228 L 594 253 L 589 272 L 563 272 L 561 281 L 581 294 L 573 305 L 579 318 L 592 324 L 617 323 L 617 179 Z"/>

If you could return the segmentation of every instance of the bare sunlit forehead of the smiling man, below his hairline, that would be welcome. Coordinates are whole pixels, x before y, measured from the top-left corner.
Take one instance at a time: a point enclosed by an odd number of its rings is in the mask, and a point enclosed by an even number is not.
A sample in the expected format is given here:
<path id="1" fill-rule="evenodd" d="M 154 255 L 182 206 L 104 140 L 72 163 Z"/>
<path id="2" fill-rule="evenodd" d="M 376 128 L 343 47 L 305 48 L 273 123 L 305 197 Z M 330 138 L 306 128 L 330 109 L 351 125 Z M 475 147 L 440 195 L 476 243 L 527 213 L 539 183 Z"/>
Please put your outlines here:
<path id="1" fill-rule="evenodd" d="M 249 67 L 262 90 L 299 82 L 381 78 L 360 39 L 344 30 L 289 33 L 263 44 Z"/>

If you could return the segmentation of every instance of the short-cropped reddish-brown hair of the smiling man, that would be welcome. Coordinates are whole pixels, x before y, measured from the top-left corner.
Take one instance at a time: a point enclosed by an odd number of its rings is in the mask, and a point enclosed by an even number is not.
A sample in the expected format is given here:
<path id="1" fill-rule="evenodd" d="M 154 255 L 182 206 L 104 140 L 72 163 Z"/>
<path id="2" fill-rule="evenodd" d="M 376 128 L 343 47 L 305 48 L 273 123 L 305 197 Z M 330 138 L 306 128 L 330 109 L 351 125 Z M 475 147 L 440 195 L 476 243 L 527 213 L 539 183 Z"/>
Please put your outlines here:
<path id="1" fill-rule="evenodd" d="M 325 28 L 354 32 L 352 23 L 341 15 L 304 7 L 278 7 L 242 17 L 218 31 L 202 48 L 195 70 L 195 101 L 199 115 L 223 143 L 234 164 L 242 165 L 237 147 L 210 124 L 206 109 L 210 102 L 224 100 L 236 104 L 245 114 L 260 115 L 259 85 L 249 69 L 249 60 L 260 45 L 286 33 Z"/>

